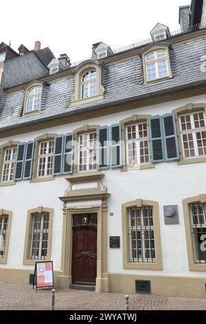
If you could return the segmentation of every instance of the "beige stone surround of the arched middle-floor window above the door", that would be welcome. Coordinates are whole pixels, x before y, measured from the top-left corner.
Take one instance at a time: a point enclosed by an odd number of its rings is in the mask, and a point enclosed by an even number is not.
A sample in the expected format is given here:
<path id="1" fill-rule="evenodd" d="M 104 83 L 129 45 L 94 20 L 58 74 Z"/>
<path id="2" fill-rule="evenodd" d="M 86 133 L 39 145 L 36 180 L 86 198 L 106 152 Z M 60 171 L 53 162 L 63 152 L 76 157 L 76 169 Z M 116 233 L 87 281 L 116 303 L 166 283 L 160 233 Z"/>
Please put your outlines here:
<path id="1" fill-rule="evenodd" d="M 89 133 L 89 132 L 97 132 L 100 125 L 84 125 L 80 128 L 76 128 L 73 130 L 73 140 L 74 140 L 74 148 L 73 148 L 73 175 L 75 174 L 84 174 L 93 172 L 95 170 L 89 171 L 78 171 L 78 163 L 79 163 L 79 148 L 78 148 L 78 138 L 80 134 Z M 98 172 L 98 170 L 96 170 Z"/>

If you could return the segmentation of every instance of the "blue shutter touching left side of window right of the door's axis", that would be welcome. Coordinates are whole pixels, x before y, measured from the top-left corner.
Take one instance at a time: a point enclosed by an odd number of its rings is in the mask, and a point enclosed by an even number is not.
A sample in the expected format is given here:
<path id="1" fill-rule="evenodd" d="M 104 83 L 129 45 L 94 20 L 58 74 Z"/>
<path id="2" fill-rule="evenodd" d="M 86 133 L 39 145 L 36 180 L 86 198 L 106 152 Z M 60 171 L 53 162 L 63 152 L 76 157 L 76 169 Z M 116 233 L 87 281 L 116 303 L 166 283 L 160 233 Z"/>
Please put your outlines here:
<path id="1" fill-rule="evenodd" d="M 113 124 L 110 127 L 110 167 L 122 167 L 122 131 L 121 124 Z"/>

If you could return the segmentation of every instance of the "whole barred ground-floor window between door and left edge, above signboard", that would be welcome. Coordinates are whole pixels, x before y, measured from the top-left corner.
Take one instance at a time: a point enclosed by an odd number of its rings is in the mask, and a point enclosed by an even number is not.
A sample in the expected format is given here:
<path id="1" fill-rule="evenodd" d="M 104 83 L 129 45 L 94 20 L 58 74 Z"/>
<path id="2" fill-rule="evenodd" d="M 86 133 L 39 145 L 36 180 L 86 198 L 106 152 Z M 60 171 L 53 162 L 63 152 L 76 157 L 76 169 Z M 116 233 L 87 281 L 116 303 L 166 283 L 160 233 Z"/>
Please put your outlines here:
<path id="1" fill-rule="evenodd" d="M 32 214 L 30 259 L 47 259 L 49 213 Z"/>

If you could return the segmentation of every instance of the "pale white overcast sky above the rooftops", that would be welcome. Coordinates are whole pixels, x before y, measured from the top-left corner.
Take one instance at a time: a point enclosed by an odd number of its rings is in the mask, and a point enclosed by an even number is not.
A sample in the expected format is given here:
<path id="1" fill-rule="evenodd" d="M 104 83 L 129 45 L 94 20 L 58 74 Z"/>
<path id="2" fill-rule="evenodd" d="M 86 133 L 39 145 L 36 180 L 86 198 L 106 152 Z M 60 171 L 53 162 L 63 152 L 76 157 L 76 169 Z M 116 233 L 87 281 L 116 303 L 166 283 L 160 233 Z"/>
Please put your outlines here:
<path id="1" fill-rule="evenodd" d="M 2 1 L 0 43 L 49 47 L 71 62 L 91 57 L 93 43 L 113 50 L 150 38 L 156 23 L 179 30 L 179 6 L 191 0 L 10 0 Z"/>

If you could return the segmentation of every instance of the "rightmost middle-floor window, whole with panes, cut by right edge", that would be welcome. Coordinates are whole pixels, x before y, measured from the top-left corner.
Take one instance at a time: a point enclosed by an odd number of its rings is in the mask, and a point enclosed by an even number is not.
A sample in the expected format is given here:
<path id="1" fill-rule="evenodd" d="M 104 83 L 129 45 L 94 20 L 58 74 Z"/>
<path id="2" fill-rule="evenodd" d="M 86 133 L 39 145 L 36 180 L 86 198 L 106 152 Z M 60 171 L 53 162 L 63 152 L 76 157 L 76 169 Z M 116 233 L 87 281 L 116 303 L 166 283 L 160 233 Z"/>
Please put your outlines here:
<path id="1" fill-rule="evenodd" d="M 179 117 L 183 156 L 190 159 L 206 155 L 205 112 L 193 112 Z"/>

